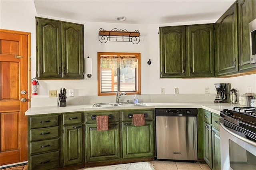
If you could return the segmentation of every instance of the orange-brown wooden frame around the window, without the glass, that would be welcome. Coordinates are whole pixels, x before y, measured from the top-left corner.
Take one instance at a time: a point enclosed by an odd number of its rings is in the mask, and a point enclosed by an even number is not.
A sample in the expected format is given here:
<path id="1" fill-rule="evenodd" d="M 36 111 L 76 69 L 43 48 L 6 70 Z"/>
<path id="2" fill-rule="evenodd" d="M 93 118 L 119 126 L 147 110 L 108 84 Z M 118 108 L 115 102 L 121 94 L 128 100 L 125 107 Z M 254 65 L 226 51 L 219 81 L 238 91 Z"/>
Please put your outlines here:
<path id="1" fill-rule="evenodd" d="M 126 92 L 126 95 L 140 95 L 140 53 L 119 53 L 119 52 L 98 52 L 98 96 L 108 96 L 108 95 L 116 95 L 116 92 L 101 92 L 101 65 L 100 65 L 100 56 L 101 55 L 136 55 L 138 57 L 138 80 L 137 80 L 137 88 L 136 92 Z M 122 91 L 123 92 L 123 91 Z"/>

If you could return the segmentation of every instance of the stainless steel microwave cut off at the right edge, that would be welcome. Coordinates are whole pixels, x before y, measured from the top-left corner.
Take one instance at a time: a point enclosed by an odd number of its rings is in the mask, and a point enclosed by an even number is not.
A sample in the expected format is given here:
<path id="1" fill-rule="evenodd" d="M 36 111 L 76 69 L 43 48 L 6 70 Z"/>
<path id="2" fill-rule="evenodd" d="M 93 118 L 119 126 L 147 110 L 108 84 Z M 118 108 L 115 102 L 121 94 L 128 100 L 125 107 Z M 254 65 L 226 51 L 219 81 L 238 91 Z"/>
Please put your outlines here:
<path id="1" fill-rule="evenodd" d="M 250 63 L 256 63 L 256 19 L 249 23 L 250 31 Z"/>

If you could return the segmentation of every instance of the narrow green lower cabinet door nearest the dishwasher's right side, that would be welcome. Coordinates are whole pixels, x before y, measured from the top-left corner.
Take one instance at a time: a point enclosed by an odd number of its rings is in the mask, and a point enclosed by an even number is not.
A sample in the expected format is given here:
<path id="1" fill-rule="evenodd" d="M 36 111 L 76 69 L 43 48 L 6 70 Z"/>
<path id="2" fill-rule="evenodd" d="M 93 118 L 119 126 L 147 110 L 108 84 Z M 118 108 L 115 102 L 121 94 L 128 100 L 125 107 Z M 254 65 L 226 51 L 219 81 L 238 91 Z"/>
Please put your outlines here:
<path id="1" fill-rule="evenodd" d="M 212 168 L 212 126 L 204 122 L 204 160 Z"/>

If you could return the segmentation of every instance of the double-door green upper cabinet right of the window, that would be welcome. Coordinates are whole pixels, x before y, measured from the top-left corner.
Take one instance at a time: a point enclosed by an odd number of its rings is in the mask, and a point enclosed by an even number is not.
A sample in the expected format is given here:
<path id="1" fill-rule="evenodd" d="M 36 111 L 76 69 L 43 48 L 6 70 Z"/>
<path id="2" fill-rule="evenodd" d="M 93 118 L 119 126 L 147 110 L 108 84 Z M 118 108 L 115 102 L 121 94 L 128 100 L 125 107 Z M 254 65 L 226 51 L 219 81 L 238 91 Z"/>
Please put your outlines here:
<path id="1" fill-rule="evenodd" d="M 214 77 L 214 24 L 160 27 L 160 78 Z"/>

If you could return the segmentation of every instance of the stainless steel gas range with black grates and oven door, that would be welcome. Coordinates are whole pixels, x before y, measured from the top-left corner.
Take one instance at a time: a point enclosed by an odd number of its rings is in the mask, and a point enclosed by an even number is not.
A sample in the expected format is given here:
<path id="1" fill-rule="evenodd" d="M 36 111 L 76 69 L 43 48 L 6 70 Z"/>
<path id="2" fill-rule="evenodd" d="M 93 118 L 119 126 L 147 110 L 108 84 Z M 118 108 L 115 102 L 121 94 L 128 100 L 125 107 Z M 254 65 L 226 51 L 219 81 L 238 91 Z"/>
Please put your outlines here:
<path id="1" fill-rule="evenodd" d="M 234 107 L 220 112 L 222 170 L 256 169 L 256 108 Z"/>

